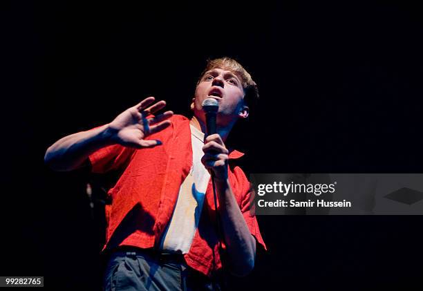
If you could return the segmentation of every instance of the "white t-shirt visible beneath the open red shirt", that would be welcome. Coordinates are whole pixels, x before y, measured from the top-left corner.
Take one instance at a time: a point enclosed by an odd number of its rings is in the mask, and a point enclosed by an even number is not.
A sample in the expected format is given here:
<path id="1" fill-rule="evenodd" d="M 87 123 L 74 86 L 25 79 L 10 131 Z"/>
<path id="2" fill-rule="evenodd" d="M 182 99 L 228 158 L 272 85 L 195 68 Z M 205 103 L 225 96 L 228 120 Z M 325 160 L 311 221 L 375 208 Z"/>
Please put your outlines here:
<path id="1" fill-rule="evenodd" d="M 210 174 L 201 158 L 204 156 L 204 133 L 190 124 L 192 165 L 187 178 L 180 185 L 178 200 L 167 229 L 164 230 L 161 247 L 165 252 L 186 254 L 191 247 L 200 220 L 201 209 Z"/>

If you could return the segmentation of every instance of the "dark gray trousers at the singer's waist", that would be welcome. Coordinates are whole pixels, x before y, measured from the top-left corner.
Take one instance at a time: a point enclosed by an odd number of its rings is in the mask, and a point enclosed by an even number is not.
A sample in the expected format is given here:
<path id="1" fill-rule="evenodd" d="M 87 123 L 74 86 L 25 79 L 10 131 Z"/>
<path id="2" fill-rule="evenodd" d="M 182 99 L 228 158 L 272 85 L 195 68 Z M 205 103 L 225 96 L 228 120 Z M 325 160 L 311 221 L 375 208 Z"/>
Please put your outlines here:
<path id="1" fill-rule="evenodd" d="M 220 290 L 220 286 L 188 267 L 182 255 L 155 256 L 134 248 L 111 254 L 104 290 Z"/>

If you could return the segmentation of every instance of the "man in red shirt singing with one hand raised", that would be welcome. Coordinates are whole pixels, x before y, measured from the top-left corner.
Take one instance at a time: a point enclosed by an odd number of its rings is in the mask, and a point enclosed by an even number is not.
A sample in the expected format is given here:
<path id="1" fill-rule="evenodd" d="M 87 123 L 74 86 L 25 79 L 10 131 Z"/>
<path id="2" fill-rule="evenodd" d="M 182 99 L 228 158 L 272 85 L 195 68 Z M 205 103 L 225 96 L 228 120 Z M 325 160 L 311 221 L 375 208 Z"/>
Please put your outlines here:
<path id="1" fill-rule="evenodd" d="M 216 134 L 207 135 L 203 101 L 218 101 Z M 122 173 L 109 190 L 105 290 L 210 290 L 224 267 L 245 276 L 263 239 L 250 212 L 254 192 L 225 140 L 258 98 L 241 64 L 207 63 L 191 103 L 194 116 L 148 97 L 109 124 L 68 135 L 46 151 L 57 171 L 91 167 Z M 214 201 L 211 175 L 217 195 Z"/>

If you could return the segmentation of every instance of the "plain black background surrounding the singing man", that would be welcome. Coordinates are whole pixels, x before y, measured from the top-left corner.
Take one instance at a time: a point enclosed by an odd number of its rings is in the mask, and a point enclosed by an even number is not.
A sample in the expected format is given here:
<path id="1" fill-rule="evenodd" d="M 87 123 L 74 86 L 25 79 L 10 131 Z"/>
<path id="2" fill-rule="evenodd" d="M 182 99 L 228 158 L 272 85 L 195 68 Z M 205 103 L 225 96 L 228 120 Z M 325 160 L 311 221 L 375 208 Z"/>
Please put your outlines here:
<path id="1" fill-rule="evenodd" d="M 46 148 L 149 95 L 188 114 L 208 57 L 259 84 L 233 136 L 247 172 L 422 172 L 422 9 L 400 1 L 0 3 L 1 275 L 99 290 L 101 205 Z M 252 116 L 253 117 L 253 116 Z M 260 216 L 232 288 L 422 289 L 422 216 Z M 85 287 L 84 287 L 85 286 Z"/>

